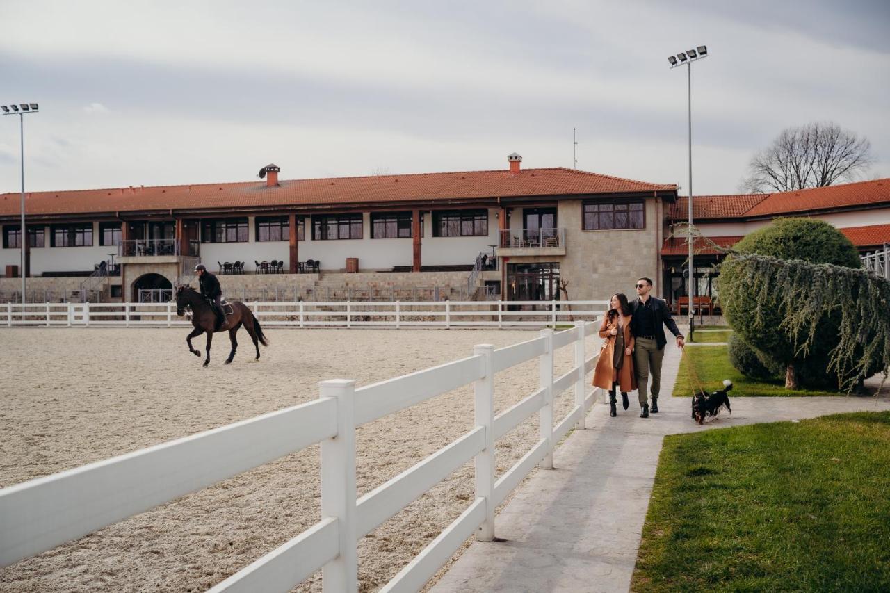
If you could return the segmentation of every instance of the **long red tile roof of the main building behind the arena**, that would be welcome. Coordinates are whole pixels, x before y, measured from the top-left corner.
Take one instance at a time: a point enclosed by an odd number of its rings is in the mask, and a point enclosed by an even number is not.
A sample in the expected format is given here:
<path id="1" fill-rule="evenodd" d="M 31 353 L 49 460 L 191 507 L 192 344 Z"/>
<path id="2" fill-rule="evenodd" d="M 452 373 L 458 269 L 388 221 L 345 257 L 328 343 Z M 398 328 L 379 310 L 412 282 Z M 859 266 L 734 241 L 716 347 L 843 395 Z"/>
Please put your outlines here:
<path id="1" fill-rule="evenodd" d="M 374 175 L 281 181 L 210 183 L 84 191 L 39 191 L 26 195 L 28 215 L 100 212 L 328 206 L 436 199 L 609 194 L 676 191 L 676 185 L 644 183 L 562 167 L 418 175 Z M 20 212 L 20 194 L 0 194 L 0 216 Z"/>

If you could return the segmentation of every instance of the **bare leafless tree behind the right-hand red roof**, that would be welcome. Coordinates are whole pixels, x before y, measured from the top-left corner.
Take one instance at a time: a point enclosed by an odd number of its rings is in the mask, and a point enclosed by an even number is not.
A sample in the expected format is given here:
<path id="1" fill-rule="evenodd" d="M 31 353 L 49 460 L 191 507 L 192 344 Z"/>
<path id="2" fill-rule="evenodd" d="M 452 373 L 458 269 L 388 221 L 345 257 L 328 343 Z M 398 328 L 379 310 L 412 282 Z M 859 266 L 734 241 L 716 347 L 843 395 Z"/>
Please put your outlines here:
<path id="1" fill-rule="evenodd" d="M 824 187 L 853 181 L 872 160 L 868 139 L 837 124 L 789 127 L 751 159 L 741 187 L 751 193 Z"/>

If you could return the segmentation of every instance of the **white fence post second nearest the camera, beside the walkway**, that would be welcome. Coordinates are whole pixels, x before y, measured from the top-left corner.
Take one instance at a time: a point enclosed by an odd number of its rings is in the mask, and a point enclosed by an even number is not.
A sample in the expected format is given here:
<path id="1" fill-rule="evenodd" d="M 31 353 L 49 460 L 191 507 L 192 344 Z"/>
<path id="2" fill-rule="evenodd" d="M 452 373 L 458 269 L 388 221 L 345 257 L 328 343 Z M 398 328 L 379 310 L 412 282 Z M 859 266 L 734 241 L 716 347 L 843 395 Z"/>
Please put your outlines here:
<path id="1" fill-rule="evenodd" d="M 477 541 L 495 538 L 495 378 L 492 358 L 495 347 L 491 344 L 473 346 L 473 354 L 484 358 L 485 377 L 473 383 L 475 394 L 475 423 L 485 427 L 485 449 L 475 458 L 476 498 L 485 499 L 485 520 L 476 531 Z"/>

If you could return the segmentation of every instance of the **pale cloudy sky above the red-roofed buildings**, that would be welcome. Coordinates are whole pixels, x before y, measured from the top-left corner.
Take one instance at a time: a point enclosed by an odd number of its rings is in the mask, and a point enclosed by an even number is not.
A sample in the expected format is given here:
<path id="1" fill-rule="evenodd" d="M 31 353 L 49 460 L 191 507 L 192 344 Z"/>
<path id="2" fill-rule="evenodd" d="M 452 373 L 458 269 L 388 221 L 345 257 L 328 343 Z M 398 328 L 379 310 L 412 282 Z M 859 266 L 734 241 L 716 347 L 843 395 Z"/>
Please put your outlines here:
<path id="1" fill-rule="evenodd" d="M 12 2 L 0 103 L 26 191 L 574 167 L 736 193 L 785 127 L 890 177 L 890 2 Z M 0 192 L 20 189 L 0 118 Z"/>

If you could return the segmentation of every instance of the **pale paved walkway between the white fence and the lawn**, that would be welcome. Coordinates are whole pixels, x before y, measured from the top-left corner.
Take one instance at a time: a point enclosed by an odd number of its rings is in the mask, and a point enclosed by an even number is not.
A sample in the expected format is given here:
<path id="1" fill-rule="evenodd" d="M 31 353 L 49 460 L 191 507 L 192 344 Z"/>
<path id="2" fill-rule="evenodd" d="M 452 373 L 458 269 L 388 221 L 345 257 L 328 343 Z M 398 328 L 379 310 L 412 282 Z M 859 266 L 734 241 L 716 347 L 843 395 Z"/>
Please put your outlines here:
<path id="1" fill-rule="evenodd" d="M 538 470 L 496 518 L 504 542 L 475 541 L 432 589 L 457 591 L 627 591 L 655 469 L 665 435 L 709 428 L 890 410 L 890 386 L 876 399 L 732 398 L 732 415 L 705 426 L 690 418 L 690 400 L 668 397 L 680 351 L 667 345 L 659 414 L 639 418 L 639 404 L 618 418 L 595 404 L 588 430 L 576 430 L 554 453 L 554 470 Z M 877 386 L 874 378 L 870 383 Z M 890 383 L 890 382 L 888 382 Z M 566 396 L 565 394 L 562 395 Z"/>

